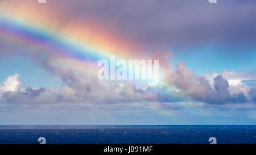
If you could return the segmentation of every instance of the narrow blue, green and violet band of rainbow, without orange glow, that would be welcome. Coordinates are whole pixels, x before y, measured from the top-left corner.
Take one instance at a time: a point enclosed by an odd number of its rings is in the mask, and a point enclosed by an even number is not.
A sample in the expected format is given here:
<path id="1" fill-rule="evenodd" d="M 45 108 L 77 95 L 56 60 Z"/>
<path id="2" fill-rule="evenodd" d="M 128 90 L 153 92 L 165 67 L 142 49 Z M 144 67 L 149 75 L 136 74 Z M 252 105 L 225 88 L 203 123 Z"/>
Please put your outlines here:
<path id="1" fill-rule="evenodd" d="M 108 58 L 111 53 L 90 47 L 79 41 L 60 35 L 36 24 L 14 19 L 8 15 L 0 15 L 1 37 L 24 46 L 56 52 L 76 58 L 98 60 Z"/>

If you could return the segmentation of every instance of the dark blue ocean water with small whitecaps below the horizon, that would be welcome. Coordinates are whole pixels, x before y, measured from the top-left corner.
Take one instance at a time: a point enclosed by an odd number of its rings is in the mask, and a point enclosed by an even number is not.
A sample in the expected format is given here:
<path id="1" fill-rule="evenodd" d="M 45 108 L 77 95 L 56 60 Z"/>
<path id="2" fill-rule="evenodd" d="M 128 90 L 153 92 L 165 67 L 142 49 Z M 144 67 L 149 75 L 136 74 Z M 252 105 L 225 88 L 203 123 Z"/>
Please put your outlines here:
<path id="1" fill-rule="evenodd" d="M 0 125 L 0 143 L 256 143 L 256 125 Z"/>

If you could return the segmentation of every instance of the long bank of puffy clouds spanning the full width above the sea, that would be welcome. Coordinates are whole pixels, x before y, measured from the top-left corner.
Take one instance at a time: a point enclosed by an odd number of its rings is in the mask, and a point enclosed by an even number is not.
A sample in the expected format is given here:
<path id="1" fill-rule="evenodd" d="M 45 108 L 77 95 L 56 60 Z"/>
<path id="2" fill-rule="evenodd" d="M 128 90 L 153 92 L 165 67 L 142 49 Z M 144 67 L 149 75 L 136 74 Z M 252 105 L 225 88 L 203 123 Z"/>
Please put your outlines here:
<path id="1" fill-rule="evenodd" d="M 174 70 L 165 55 L 155 58 L 160 60 L 166 84 L 143 87 L 143 89 L 129 81 L 120 83 L 119 81 L 99 80 L 96 62 L 90 60 L 76 60 L 47 54 L 44 55 L 43 60 L 42 58 L 38 60 L 33 55 L 30 54 L 30 56 L 44 69 L 59 76 L 63 80 L 63 86 L 59 89 L 22 87 L 19 75 L 15 74 L 8 77 L 0 86 L 2 102 L 102 106 L 142 102 L 180 103 L 191 100 L 223 105 L 255 102 L 256 100 L 256 94 L 251 87 L 245 83 L 233 86 L 224 78 L 225 76 L 232 79 L 234 73 L 228 74 L 224 70 L 224 74 L 197 76 L 192 70 L 188 70 L 185 62 L 182 61 Z M 174 107 L 170 105 L 163 107 Z"/>

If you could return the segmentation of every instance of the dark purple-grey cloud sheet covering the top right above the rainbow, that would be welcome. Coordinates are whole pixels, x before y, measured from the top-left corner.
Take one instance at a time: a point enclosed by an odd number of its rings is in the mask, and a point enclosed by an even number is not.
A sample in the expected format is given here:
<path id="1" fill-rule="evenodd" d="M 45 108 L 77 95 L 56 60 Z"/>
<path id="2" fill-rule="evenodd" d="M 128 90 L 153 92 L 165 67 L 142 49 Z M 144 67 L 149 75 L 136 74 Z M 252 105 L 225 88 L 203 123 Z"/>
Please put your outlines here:
<path id="1" fill-rule="evenodd" d="M 62 7 L 71 21 L 104 23 L 148 48 L 256 41 L 253 0 L 64 0 L 52 5 Z"/>

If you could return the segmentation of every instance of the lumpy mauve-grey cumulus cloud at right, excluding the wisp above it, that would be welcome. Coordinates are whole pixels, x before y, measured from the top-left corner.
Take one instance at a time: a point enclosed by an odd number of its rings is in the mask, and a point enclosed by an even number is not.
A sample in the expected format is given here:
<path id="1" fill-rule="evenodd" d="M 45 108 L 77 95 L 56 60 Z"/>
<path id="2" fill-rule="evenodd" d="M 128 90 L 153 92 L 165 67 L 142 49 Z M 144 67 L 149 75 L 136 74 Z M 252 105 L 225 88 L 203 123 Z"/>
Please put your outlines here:
<path id="1" fill-rule="evenodd" d="M 213 78 L 213 86 L 203 76 L 197 76 L 192 70 L 188 70 L 185 62 L 180 61 L 176 69 L 166 70 L 168 76 L 166 82 L 180 88 L 186 95 L 194 100 L 210 104 L 245 103 L 254 102 L 254 87 L 248 87 L 245 83 L 230 87 L 229 82 L 216 75 Z M 232 94 L 230 93 L 232 92 Z M 250 92 L 250 95 L 247 95 Z M 246 95 L 247 97 L 246 97 Z"/>

